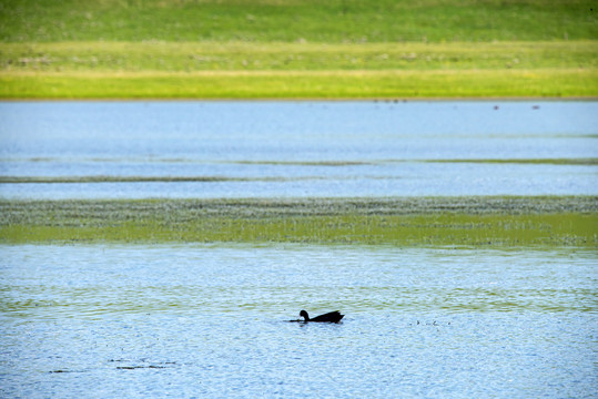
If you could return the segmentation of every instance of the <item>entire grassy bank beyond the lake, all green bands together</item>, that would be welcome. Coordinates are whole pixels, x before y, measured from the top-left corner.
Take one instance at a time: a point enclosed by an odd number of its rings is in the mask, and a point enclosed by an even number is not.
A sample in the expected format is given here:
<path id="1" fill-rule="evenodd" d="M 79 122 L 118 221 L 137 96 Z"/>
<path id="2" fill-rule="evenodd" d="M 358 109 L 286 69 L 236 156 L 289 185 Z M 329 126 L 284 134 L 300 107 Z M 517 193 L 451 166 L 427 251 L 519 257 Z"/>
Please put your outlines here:
<path id="1" fill-rule="evenodd" d="M 0 0 L 0 98 L 596 98 L 594 8 Z"/>

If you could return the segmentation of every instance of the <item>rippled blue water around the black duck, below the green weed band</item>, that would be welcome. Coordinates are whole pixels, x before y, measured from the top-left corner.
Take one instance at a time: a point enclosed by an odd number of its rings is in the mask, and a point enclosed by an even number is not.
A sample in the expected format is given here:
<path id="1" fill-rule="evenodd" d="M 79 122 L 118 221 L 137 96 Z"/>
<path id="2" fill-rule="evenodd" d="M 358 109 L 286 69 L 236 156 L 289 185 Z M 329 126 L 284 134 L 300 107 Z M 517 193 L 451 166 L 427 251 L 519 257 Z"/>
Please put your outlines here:
<path id="1" fill-rule="evenodd" d="M 596 398 L 591 250 L 0 250 L 3 398 Z"/>

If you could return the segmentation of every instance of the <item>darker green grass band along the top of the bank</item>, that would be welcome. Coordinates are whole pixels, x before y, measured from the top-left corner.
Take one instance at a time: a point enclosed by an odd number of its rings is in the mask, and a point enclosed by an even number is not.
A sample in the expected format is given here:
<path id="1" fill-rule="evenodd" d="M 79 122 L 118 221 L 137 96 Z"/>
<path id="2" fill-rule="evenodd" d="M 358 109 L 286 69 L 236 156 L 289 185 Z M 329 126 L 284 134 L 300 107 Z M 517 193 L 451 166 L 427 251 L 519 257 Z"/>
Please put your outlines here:
<path id="1" fill-rule="evenodd" d="M 598 38 L 591 0 L 0 0 L 0 22 L 4 42 Z"/>

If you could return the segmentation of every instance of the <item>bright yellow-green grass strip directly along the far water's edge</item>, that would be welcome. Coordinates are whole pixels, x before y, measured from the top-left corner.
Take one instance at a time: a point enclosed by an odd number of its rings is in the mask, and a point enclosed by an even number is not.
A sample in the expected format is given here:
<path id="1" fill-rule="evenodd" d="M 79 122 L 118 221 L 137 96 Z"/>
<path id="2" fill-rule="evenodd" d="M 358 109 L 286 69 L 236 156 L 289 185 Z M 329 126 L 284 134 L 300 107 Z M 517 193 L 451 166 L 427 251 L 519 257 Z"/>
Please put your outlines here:
<path id="1" fill-rule="evenodd" d="M 0 74 L 2 99 L 596 98 L 598 70 Z"/>

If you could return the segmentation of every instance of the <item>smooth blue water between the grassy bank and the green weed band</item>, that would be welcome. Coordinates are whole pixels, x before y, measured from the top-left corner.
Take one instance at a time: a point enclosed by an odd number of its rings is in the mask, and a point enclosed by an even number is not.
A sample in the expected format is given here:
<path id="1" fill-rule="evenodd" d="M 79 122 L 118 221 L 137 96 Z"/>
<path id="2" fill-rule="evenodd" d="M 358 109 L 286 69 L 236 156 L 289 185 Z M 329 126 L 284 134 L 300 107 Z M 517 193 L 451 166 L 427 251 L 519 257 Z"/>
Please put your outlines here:
<path id="1" fill-rule="evenodd" d="M 598 102 L 0 103 L 0 177 L 154 180 L 3 198 L 596 195 L 597 155 Z"/>

